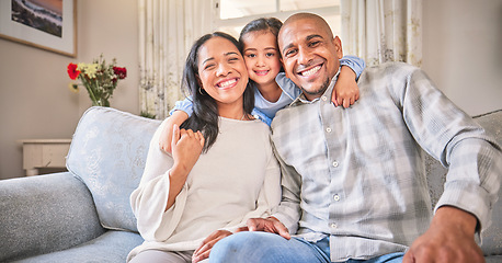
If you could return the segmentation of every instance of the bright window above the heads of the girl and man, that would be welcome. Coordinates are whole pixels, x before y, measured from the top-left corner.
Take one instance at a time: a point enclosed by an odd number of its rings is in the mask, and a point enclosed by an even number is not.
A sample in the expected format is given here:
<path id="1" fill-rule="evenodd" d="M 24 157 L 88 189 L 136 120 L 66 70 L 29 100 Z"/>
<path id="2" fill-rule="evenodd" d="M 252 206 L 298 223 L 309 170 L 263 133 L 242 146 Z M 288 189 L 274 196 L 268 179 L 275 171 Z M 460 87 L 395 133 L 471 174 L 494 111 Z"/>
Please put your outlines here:
<path id="1" fill-rule="evenodd" d="M 298 12 L 316 13 L 324 18 L 334 35 L 340 35 L 340 0 L 216 0 L 216 28 L 236 38 L 242 27 L 259 18 L 285 21 Z"/>

